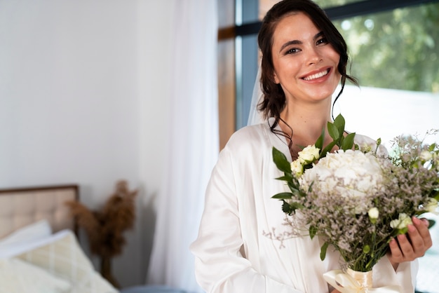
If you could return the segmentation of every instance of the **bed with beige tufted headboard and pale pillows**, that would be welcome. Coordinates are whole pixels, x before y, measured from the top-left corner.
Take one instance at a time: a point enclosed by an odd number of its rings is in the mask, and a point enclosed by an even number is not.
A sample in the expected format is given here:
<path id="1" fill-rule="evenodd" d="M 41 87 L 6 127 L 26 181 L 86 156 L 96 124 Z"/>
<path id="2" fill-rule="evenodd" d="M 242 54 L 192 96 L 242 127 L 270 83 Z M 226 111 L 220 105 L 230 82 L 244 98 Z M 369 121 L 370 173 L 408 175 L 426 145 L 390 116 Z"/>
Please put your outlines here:
<path id="1" fill-rule="evenodd" d="M 113 287 L 79 245 L 67 200 L 79 200 L 79 186 L 0 189 L 0 293 L 184 293 Z"/>

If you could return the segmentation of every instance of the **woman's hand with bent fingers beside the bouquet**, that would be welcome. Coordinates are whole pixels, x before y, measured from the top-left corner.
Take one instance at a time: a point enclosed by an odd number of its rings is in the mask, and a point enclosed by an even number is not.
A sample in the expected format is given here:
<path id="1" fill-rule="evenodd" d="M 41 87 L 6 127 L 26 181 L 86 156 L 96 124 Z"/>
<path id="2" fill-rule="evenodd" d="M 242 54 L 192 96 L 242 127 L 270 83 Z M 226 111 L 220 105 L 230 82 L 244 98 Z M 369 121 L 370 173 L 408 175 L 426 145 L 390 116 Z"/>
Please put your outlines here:
<path id="1" fill-rule="evenodd" d="M 433 245 L 428 230 L 428 220 L 412 217 L 412 222 L 412 225 L 407 226 L 407 234 L 398 235 L 396 237 L 398 241 L 393 238 L 389 243 L 390 251 L 387 256 L 395 271 L 398 264 L 423 257 L 428 248 Z"/>

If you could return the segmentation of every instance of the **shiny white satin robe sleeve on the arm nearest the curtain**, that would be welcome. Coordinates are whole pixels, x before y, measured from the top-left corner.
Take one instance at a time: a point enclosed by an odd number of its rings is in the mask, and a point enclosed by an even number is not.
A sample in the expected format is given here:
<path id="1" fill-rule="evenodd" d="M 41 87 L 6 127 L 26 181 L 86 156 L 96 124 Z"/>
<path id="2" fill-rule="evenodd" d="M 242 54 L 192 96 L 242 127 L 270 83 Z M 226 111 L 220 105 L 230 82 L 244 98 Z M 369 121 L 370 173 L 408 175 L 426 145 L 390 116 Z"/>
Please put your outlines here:
<path id="1" fill-rule="evenodd" d="M 190 247 L 195 255 L 196 280 L 205 292 L 212 293 L 299 293 L 258 273 L 245 258 L 236 194 L 239 176 L 234 174 L 236 161 L 226 147 L 212 171 L 198 238 Z"/>

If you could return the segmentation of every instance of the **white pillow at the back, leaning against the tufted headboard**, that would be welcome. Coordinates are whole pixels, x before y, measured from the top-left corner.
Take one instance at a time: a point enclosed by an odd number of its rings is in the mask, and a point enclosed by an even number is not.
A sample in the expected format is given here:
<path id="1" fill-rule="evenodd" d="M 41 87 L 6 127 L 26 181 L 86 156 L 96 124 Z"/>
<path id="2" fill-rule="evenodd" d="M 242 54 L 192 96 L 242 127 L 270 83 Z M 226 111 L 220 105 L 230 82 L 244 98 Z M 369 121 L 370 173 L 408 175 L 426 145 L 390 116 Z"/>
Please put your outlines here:
<path id="1" fill-rule="evenodd" d="M 28 243 L 29 241 L 45 238 L 52 234 L 50 224 L 46 219 L 39 222 L 24 226 L 8 236 L 0 239 L 0 250 L 6 250 L 9 247 Z"/>

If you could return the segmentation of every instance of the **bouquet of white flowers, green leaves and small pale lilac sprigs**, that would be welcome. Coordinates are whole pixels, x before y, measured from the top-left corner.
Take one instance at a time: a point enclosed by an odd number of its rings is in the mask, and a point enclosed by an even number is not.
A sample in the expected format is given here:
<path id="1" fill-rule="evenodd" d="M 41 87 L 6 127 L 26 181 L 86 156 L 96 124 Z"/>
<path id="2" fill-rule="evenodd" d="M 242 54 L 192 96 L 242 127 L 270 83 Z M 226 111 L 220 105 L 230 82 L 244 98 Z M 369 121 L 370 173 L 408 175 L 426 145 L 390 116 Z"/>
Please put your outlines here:
<path id="1" fill-rule="evenodd" d="M 374 147 L 358 146 L 355 133 L 344 136 L 344 124 L 341 115 L 327 123 L 333 142 L 323 147 L 323 131 L 293 162 L 273 148 L 273 161 L 284 174 L 277 179 L 288 186 L 273 198 L 283 201 L 286 214 L 299 214 L 295 224 L 288 221 L 293 234 L 306 229 L 311 238 L 323 237 L 321 259 L 332 245 L 348 269 L 371 272 L 413 216 L 437 209 L 439 148 L 400 136 L 390 155 L 380 154 L 380 139 Z M 330 153 L 335 146 L 339 150 Z"/>

